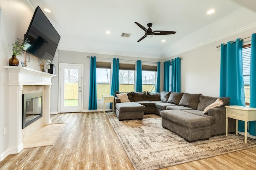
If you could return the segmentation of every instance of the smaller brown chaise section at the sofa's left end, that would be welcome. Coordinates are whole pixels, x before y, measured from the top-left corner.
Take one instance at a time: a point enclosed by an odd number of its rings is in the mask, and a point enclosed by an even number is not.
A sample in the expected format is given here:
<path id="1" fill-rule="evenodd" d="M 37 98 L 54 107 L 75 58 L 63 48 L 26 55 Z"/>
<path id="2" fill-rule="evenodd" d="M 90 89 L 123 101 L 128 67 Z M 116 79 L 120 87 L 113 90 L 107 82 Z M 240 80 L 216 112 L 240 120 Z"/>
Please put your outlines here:
<path id="1" fill-rule="evenodd" d="M 145 106 L 136 102 L 124 102 L 116 104 L 116 116 L 119 120 L 143 119 Z"/>

